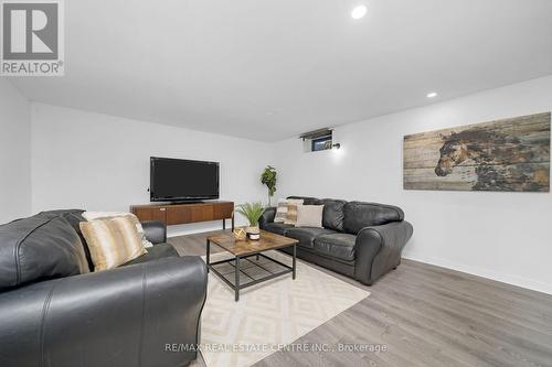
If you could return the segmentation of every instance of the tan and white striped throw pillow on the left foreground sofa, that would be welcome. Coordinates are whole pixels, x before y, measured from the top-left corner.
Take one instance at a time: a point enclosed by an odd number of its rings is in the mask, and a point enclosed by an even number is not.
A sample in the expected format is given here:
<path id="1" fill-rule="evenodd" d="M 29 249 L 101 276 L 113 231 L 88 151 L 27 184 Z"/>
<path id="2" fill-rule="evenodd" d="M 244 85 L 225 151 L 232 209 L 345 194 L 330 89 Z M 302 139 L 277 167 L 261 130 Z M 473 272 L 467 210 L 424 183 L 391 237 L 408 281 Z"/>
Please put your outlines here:
<path id="1" fill-rule="evenodd" d="M 128 216 L 81 222 L 94 271 L 117 268 L 146 253 L 136 224 Z"/>

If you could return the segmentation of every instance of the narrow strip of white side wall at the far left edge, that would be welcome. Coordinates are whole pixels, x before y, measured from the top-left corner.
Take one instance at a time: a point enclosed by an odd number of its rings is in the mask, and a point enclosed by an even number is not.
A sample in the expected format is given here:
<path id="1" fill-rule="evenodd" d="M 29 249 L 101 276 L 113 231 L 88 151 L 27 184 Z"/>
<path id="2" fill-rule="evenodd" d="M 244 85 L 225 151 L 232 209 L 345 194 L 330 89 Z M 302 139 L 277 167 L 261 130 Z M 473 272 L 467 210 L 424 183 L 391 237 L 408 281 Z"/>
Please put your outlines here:
<path id="1" fill-rule="evenodd" d="M 29 101 L 0 78 L 0 224 L 31 213 Z"/>

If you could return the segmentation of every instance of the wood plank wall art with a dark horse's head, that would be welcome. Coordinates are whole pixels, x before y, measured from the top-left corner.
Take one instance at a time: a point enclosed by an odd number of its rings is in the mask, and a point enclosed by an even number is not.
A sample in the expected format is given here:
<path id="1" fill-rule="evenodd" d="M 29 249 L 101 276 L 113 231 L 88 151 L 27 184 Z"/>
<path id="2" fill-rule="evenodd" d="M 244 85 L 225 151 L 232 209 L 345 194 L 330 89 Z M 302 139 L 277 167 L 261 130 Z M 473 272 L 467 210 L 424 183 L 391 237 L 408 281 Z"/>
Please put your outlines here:
<path id="1" fill-rule="evenodd" d="M 406 136 L 404 188 L 550 192 L 550 116 Z"/>

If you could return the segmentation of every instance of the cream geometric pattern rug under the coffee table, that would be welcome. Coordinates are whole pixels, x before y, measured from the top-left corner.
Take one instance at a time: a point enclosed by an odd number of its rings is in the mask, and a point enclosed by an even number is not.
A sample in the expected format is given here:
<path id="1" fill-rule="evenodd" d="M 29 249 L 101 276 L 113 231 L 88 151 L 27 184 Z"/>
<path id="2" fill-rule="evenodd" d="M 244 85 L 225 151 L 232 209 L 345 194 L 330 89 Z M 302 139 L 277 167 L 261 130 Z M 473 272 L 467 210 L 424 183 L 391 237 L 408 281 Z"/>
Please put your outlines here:
<path id="1" fill-rule="evenodd" d="M 290 265 L 279 251 L 266 255 Z M 211 261 L 227 258 L 214 253 Z M 263 261 L 263 258 L 259 258 Z M 233 277 L 233 266 L 229 278 Z M 234 291 L 209 273 L 208 298 L 201 316 L 201 354 L 208 367 L 245 367 L 291 344 L 370 295 L 360 288 L 297 261 L 291 274 Z"/>

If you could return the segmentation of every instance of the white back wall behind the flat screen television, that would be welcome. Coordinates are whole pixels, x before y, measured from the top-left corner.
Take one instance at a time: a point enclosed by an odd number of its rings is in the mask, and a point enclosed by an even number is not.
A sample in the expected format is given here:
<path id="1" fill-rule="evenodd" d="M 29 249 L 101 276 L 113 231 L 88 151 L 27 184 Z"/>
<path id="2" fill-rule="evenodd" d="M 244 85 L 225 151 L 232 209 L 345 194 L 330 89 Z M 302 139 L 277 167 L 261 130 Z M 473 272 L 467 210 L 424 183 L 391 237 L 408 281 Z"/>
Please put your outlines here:
<path id="1" fill-rule="evenodd" d="M 32 147 L 33 212 L 149 203 L 150 156 L 219 161 L 221 199 L 265 201 L 258 176 L 272 156 L 265 143 L 43 104 L 32 104 Z M 176 226 L 169 234 L 221 226 Z"/>

